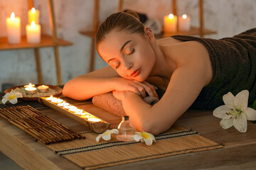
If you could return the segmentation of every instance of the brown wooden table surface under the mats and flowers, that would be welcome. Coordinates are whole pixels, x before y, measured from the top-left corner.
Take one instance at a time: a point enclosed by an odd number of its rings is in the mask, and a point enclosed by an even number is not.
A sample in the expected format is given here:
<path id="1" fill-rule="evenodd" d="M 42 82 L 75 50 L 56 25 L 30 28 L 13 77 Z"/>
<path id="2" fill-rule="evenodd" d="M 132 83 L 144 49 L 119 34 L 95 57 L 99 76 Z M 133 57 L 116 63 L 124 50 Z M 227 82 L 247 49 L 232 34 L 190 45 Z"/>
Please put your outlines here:
<path id="1" fill-rule="evenodd" d="M 85 111 L 107 118 L 117 125 L 120 118 L 87 104 Z M 85 126 L 52 109 L 41 111 L 71 130 L 87 130 Z M 188 110 L 176 122 L 184 128 L 192 128 L 214 142 L 223 143 L 222 149 L 179 154 L 171 157 L 151 159 L 111 166 L 104 169 L 256 169 L 256 124 L 248 121 L 246 133 L 240 133 L 234 127 L 223 130 L 220 119 L 211 111 Z M 33 140 L 33 137 L 11 125 L 0 117 L 0 150 L 24 169 L 80 169 L 64 157 Z"/>

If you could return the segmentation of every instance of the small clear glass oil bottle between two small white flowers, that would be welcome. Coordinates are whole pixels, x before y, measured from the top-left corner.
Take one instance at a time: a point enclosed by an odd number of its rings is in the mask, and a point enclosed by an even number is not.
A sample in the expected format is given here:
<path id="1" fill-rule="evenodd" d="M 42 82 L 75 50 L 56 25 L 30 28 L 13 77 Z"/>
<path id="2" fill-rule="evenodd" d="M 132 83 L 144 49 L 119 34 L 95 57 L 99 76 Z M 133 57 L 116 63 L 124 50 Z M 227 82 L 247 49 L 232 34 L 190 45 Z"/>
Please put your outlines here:
<path id="1" fill-rule="evenodd" d="M 134 140 L 135 128 L 129 120 L 128 115 L 122 117 L 122 122 L 118 125 L 119 134 L 116 136 L 117 140 L 132 141 Z"/>

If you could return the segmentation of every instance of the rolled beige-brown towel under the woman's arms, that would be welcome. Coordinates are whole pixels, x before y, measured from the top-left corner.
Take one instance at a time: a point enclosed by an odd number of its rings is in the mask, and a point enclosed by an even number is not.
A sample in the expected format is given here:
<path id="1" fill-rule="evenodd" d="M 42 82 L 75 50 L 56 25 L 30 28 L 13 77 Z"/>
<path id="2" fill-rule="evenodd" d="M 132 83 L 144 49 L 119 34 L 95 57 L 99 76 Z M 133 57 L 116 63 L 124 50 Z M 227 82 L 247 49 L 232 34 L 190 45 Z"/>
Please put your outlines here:
<path id="1" fill-rule="evenodd" d="M 143 100 L 152 106 L 159 101 L 158 98 L 152 96 L 146 96 Z M 115 98 L 112 92 L 94 96 L 92 98 L 92 103 L 99 108 L 103 108 L 104 110 L 113 113 L 114 115 L 118 115 L 119 117 L 125 115 L 122 101 Z"/>

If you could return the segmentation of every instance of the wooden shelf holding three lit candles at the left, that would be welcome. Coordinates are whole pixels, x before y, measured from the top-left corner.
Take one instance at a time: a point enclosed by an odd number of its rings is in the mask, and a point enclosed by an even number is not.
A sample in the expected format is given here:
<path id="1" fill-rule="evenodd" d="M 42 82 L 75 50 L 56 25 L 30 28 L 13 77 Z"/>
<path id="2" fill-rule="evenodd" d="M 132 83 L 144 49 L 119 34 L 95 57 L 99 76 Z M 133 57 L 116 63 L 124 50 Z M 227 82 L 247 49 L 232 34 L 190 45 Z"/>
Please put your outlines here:
<path id="1" fill-rule="evenodd" d="M 72 42 L 58 39 L 58 45 L 55 45 L 53 38 L 50 35 L 41 35 L 41 42 L 38 44 L 29 44 L 26 41 L 26 36 L 21 37 L 21 42 L 16 45 L 8 43 L 7 38 L 0 38 L 0 50 L 17 50 L 24 48 L 37 48 L 37 47 L 55 47 L 55 46 L 67 46 L 73 45 Z"/>

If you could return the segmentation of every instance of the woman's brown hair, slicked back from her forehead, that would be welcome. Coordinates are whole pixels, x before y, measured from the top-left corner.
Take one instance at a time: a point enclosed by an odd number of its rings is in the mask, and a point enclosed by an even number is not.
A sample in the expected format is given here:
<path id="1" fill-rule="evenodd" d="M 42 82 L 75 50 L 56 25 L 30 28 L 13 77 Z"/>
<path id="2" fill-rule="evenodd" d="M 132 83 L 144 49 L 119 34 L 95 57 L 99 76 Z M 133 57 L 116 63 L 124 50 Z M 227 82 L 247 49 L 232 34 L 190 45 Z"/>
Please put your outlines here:
<path id="1" fill-rule="evenodd" d="M 139 21 L 139 16 L 133 11 L 113 13 L 100 24 L 96 33 L 96 47 L 112 30 L 144 35 L 144 24 Z"/>

